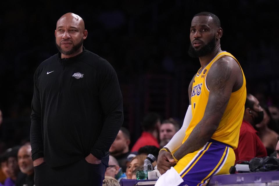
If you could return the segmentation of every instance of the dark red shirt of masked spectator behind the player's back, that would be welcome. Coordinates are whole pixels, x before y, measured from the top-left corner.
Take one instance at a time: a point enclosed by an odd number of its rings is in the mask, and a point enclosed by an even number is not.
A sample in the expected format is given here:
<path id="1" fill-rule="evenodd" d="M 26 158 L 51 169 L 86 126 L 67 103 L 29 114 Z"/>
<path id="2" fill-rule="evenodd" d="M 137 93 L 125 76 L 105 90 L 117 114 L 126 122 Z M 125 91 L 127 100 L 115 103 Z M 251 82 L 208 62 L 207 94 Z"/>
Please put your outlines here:
<path id="1" fill-rule="evenodd" d="M 267 156 L 267 150 L 257 135 L 257 130 L 247 121 L 242 121 L 239 133 L 238 147 L 235 149 L 235 162 L 250 161 L 255 157 Z"/>

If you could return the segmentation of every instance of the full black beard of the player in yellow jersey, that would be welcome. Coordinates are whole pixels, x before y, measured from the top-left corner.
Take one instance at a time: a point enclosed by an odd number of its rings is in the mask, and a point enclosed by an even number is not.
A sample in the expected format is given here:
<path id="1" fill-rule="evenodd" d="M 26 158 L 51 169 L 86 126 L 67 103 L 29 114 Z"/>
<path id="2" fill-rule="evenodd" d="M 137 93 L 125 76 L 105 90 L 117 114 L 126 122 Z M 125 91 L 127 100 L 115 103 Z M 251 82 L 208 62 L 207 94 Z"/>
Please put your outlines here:
<path id="1" fill-rule="evenodd" d="M 189 50 L 188 50 L 188 54 L 190 57 L 192 58 L 199 58 L 199 57 L 203 57 L 208 55 L 209 53 L 211 53 L 214 48 L 216 46 L 216 40 L 215 40 L 215 35 L 212 38 L 212 40 L 210 40 L 210 42 L 208 44 L 206 44 L 205 46 L 203 46 L 201 49 L 196 50 L 193 46 L 192 43 L 190 43 L 189 46 Z"/>

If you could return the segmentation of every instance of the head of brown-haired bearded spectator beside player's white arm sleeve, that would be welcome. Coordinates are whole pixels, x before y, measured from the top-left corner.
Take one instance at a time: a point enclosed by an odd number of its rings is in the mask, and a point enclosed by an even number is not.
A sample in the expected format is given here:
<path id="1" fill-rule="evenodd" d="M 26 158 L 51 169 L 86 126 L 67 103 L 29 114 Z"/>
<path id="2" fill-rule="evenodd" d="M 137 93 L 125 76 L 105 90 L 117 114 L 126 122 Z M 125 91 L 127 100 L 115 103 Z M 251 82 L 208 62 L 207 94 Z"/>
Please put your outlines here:
<path id="1" fill-rule="evenodd" d="M 180 129 L 177 121 L 172 118 L 164 120 L 160 126 L 159 137 L 160 137 L 160 148 L 163 148 L 175 133 Z"/>

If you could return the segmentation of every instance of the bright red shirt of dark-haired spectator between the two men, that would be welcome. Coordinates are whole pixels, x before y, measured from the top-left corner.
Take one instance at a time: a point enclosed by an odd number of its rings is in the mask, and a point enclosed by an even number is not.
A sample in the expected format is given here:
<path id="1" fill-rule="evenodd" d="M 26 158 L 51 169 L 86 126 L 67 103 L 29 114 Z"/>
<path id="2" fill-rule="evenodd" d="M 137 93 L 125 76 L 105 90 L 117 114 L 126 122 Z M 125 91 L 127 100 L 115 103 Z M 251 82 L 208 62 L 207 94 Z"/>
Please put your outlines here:
<path id="1" fill-rule="evenodd" d="M 134 144 L 131 152 L 137 152 L 141 147 L 146 145 L 152 145 L 156 146 L 157 148 L 160 148 L 158 140 L 151 133 L 142 132 L 142 135 Z"/>

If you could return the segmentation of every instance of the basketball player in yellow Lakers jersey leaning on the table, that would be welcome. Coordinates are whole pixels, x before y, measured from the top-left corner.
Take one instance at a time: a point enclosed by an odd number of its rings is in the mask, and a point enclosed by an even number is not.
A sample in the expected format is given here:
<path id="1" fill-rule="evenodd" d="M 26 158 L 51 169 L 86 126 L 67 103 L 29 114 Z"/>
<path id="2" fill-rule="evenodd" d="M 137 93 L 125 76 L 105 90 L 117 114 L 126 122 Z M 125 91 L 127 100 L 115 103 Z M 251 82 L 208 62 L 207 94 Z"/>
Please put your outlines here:
<path id="1" fill-rule="evenodd" d="M 221 50 L 222 35 L 216 15 L 194 15 L 189 55 L 199 58 L 201 68 L 189 85 L 183 126 L 159 152 L 162 176 L 155 186 L 205 185 L 213 175 L 229 174 L 235 162 L 246 81 L 236 58 Z"/>

